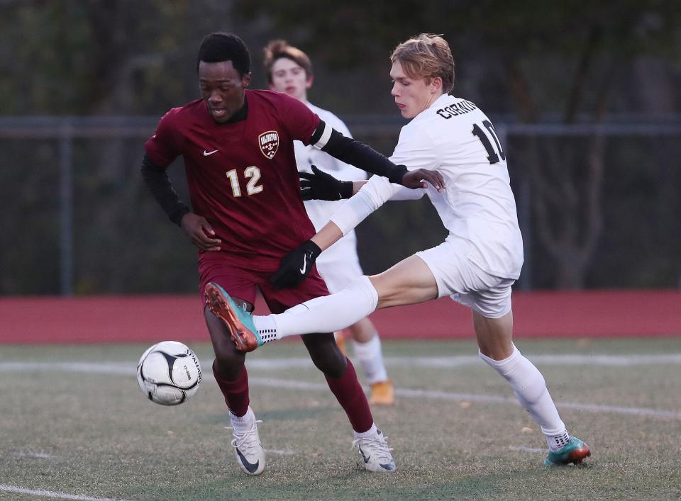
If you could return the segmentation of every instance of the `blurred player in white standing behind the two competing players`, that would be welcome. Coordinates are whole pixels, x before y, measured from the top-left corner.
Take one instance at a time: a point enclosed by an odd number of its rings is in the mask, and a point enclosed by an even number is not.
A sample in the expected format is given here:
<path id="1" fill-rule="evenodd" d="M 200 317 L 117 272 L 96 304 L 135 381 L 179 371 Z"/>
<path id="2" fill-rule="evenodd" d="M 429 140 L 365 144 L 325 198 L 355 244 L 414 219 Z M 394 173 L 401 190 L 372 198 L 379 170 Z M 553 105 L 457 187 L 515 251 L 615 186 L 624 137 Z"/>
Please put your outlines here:
<path id="1" fill-rule="evenodd" d="M 272 40 L 267 44 L 265 52 L 265 69 L 270 89 L 284 92 L 299 101 L 305 103 L 319 118 L 331 125 L 341 134 L 352 137 L 350 130 L 331 111 L 323 110 L 307 100 L 307 90 L 311 88 L 314 75 L 312 64 L 302 50 L 288 45 L 285 40 Z M 367 179 L 365 171 L 345 164 L 331 157 L 313 146 L 306 146 L 300 141 L 294 141 L 296 163 L 298 170 L 312 173 L 312 166 L 316 169 L 332 174 L 340 179 L 348 181 Z M 309 215 L 315 230 L 321 230 L 331 218 L 333 213 L 343 204 L 343 201 L 308 200 L 305 201 L 305 210 Z M 363 275 L 360 261 L 357 255 L 357 236 L 354 230 L 338 240 L 326 249 L 316 259 L 317 271 L 326 282 L 331 293 L 342 291 L 356 278 Z M 353 339 L 353 351 L 368 383 L 371 387 L 370 403 L 377 405 L 393 405 L 394 390 L 392 381 L 388 379 L 381 340 L 376 327 L 367 317 L 361 318 L 353 325 L 347 327 L 350 337 Z M 341 332 L 337 333 L 339 344 L 343 342 Z"/>

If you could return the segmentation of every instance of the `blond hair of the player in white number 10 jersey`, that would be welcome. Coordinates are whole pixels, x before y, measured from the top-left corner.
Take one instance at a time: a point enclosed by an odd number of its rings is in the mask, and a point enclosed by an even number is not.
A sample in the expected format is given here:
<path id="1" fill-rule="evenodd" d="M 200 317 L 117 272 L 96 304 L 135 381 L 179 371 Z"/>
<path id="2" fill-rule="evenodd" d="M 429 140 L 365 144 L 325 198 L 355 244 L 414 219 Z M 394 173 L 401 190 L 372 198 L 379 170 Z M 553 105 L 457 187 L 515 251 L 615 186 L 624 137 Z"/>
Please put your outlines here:
<path id="1" fill-rule="evenodd" d="M 447 94 L 454 86 L 454 58 L 447 40 L 441 35 L 421 33 L 397 45 L 390 62 L 399 61 L 411 79 L 442 79 L 442 91 Z"/>

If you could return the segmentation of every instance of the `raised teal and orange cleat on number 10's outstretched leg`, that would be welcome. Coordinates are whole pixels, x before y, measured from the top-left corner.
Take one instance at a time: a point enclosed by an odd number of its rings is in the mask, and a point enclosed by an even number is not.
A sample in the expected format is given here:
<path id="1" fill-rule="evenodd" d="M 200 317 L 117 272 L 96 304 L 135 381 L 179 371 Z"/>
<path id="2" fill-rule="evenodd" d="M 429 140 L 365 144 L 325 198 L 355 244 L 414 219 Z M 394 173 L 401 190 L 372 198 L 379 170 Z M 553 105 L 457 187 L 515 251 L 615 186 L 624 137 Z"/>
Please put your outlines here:
<path id="1" fill-rule="evenodd" d="M 209 282 L 204 288 L 206 303 L 213 315 L 218 317 L 229 329 L 239 351 L 253 351 L 265 344 L 255 328 L 250 313 L 239 308 L 225 290 L 217 283 Z"/>

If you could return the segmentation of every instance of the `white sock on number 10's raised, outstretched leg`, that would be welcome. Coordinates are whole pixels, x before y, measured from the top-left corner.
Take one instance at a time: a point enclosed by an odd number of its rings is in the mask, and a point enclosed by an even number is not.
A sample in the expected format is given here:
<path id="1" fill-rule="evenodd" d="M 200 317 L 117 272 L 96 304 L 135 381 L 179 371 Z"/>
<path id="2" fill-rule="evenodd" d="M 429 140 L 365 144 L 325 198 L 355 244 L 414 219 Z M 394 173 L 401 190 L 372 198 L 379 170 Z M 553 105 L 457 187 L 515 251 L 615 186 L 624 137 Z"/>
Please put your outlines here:
<path id="1" fill-rule="evenodd" d="M 334 332 L 366 317 L 377 304 L 376 289 L 367 276 L 362 276 L 341 292 L 305 301 L 278 315 L 255 316 L 253 321 L 258 332 L 261 327 L 263 330 L 274 328 L 275 339 L 312 332 Z"/>

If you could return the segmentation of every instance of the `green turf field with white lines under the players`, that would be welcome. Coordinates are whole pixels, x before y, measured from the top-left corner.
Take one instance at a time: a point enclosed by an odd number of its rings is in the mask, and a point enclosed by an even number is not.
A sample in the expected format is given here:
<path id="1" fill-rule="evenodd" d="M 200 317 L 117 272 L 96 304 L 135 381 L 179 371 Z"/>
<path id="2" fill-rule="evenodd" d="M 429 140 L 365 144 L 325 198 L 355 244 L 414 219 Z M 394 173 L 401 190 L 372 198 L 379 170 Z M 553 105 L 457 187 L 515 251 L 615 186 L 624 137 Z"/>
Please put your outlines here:
<path id="1" fill-rule="evenodd" d="M 516 345 L 591 446 L 583 466 L 542 465 L 538 427 L 472 342 L 384 342 L 398 401 L 373 411 L 394 447 L 392 475 L 363 469 L 300 342 L 249 355 L 268 451 L 255 478 L 233 458 L 209 344 L 192 344 L 205 378 L 177 407 L 138 388 L 146 344 L 0 345 L 0 499 L 681 499 L 680 338 Z"/>

